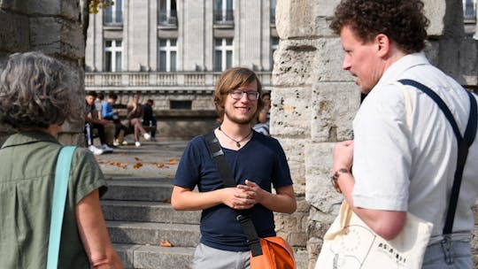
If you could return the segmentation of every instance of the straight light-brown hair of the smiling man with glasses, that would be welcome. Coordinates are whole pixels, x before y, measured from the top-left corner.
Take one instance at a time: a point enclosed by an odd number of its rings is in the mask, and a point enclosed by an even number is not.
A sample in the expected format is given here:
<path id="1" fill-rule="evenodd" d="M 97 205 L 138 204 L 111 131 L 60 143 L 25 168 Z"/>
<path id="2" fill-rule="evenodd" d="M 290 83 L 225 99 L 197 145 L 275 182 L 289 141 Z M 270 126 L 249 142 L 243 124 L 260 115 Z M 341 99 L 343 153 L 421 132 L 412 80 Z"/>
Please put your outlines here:
<path id="1" fill-rule="evenodd" d="M 258 80 L 258 76 L 253 71 L 243 68 L 235 67 L 227 69 L 224 73 L 220 75 L 219 81 L 216 83 L 214 88 L 214 104 L 216 105 L 216 112 L 218 113 L 220 122 L 224 119 L 224 100 L 232 89 L 239 88 L 241 86 L 247 86 L 253 81 L 258 83 L 258 93 L 259 96 L 262 96 L 262 85 Z M 258 98 L 258 109 L 254 114 L 254 118 L 258 117 L 258 113 L 264 107 L 264 101 L 262 98 Z"/>

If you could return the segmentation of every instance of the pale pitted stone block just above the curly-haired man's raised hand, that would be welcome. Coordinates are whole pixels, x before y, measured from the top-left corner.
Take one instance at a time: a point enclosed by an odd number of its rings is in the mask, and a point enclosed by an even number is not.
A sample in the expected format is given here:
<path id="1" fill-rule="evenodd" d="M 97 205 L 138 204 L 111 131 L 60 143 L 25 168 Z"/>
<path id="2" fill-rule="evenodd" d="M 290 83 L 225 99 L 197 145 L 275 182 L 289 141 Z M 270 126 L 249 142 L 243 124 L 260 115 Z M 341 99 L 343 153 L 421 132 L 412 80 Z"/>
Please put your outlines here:
<path id="1" fill-rule="evenodd" d="M 321 82 L 312 87 L 312 140 L 336 142 L 352 138 L 352 120 L 360 94 L 351 82 Z"/>

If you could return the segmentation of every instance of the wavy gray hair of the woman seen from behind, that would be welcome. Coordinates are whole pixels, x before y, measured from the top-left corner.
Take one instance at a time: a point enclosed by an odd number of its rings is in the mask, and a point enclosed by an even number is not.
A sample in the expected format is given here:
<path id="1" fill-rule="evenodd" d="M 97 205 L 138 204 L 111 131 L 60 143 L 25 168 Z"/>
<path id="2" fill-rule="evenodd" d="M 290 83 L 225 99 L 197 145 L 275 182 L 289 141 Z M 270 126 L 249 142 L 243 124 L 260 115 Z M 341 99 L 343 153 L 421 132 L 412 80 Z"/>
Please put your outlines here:
<path id="1" fill-rule="evenodd" d="M 0 123 L 15 129 L 46 128 L 81 119 L 65 65 L 41 52 L 12 54 L 0 71 Z"/>

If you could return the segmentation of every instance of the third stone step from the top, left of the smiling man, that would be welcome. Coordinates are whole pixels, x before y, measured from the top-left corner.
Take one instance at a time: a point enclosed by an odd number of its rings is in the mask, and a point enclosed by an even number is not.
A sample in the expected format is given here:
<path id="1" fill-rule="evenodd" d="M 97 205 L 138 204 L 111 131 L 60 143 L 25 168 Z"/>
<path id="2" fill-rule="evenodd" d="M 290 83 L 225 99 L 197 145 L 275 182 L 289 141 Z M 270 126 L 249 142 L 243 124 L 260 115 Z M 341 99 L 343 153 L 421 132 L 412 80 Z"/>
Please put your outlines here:
<path id="1" fill-rule="evenodd" d="M 168 241 L 174 247 L 195 247 L 199 242 L 199 225 L 107 220 L 113 243 L 159 245 Z"/>

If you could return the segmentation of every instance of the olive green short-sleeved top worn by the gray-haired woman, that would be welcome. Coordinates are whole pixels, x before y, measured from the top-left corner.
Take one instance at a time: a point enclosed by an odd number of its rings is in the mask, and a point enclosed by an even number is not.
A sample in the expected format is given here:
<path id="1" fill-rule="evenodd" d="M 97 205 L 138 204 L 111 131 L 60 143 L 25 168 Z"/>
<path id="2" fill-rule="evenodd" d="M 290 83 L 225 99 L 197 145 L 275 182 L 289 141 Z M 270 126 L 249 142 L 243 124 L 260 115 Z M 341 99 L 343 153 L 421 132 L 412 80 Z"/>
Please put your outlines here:
<path id="1" fill-rule="evenodd" d="M 11 135 L 0 150 L 0 267 L 45 268 L 55 168 L 61 145 L 41 132 Z M 96 159 L 73 153 L 58 268 L 89 268 L 74 207 L 96 188 L 106 190 Z"/>

